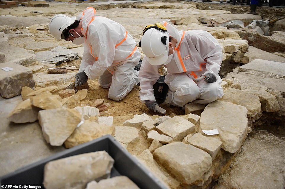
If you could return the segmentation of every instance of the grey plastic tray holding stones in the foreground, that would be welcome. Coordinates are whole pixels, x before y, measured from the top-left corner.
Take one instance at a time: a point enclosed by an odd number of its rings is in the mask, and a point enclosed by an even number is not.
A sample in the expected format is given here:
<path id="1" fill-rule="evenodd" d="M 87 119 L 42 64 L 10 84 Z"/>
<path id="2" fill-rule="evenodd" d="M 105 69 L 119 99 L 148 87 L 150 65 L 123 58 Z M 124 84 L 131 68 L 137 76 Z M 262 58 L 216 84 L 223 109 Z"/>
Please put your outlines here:
<path id="1" fill-rule="evenodd" d="M 31 165 L 18 169 L 0 178 L 0 185 L 31 185 L 42 184 L 44 165 L 52 160 L 57 160 L 73 155 L 105 150 L 115 160 L 111 170 L 111 177 L 125 175 L 141 189 L 169 189 L 149 172 L 135 157 L 121 146 L 111 135 L 105 135 L 79 146 L 66 149 L 55 155 L 47 157 Z"/>

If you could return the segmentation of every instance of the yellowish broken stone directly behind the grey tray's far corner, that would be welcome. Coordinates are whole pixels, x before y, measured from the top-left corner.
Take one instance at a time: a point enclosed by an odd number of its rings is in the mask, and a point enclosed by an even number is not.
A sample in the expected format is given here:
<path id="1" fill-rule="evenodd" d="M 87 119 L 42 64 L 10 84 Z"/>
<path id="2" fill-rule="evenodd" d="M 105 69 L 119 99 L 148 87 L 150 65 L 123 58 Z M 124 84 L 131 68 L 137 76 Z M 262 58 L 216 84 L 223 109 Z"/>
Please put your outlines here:
<path id="1" fill-rule="evenodd" d="M 71 148 L 85 142 L 92 141 L 106 134 L 113 134 L 114 127 L 86 120 L 77 127 L 64 142 L 66 148 Z"/>

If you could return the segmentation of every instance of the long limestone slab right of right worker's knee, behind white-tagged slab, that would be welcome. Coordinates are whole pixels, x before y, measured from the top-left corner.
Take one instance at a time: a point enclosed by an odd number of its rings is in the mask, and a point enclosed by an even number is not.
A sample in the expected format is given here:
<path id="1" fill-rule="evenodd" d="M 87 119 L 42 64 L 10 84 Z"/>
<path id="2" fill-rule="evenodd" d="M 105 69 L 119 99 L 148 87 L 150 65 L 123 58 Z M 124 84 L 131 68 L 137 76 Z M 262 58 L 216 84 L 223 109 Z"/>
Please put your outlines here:
<path id="1" fill-rule="evenodd" d="M 228 88 L 224 90 L 224 96 L 220 100 L 246 107 L 250 117 L 261 113 L 259 97 L 243 90 Z"/>

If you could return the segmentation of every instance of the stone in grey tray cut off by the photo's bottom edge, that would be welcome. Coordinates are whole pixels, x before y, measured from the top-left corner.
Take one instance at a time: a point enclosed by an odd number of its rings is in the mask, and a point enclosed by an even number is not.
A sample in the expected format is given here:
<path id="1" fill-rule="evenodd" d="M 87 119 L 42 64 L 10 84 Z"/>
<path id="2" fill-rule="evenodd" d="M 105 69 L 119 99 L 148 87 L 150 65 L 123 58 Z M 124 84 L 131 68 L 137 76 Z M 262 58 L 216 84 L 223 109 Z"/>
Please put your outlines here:
<path id="1" fill-rule="evenodd" d="M 92 181 L 86 189 L 140 189 L 132 180 L 126 176 L 117 176 L 102 179 L 98 183 Z"/>

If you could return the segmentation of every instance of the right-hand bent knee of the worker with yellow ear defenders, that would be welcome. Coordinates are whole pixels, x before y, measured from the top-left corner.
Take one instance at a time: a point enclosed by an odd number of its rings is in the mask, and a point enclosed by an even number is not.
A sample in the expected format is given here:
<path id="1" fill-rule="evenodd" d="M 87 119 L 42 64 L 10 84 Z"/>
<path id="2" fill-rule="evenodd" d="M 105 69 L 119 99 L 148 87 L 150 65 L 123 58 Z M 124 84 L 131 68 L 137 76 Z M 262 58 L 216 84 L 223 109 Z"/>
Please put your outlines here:
<path id="1" fill-rule="evenodd" d="M 217 82 L 203 83 L 200 86 L 200 91 L 201 96 L 194 101 L 195 103 L 208 104 L 224 95 L 222 87 Z"/>

